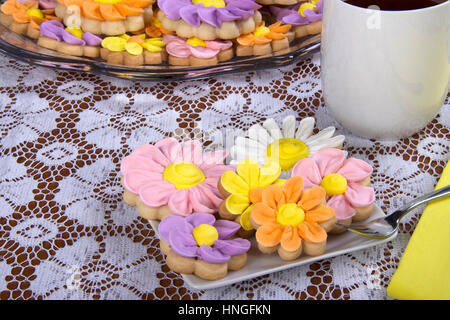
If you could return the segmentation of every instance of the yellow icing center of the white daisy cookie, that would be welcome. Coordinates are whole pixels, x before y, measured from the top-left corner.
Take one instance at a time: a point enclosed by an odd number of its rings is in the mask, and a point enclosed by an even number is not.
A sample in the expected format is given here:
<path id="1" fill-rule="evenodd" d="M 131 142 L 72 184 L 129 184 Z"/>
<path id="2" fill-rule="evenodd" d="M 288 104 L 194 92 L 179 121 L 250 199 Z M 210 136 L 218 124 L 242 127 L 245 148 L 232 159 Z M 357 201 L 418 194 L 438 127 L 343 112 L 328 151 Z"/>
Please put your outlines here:
<path id="1" fill-rule="evenodd" d="M 309 155 L 306 144 L 298 139 L 283 138 L 271 143 L 266 150 L 267 158 L 277 161 L 281 169 L 290 170 Z"/>

